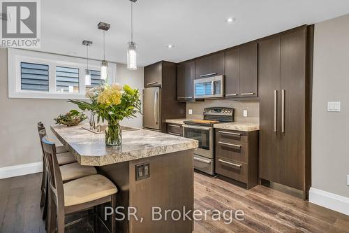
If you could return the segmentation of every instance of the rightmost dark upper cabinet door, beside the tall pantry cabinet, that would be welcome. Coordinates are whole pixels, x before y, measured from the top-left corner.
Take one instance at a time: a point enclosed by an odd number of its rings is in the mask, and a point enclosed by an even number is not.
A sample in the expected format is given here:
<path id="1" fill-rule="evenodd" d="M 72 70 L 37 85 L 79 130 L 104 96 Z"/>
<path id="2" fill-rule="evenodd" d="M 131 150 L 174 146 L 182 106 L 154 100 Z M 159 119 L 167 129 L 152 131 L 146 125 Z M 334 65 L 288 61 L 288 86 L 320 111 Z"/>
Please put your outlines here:
<path id="1" fill-rule="evenodd" d="M 248 43 L 240 50 L 240 97 L 258 97 L 258 45 Z"/>

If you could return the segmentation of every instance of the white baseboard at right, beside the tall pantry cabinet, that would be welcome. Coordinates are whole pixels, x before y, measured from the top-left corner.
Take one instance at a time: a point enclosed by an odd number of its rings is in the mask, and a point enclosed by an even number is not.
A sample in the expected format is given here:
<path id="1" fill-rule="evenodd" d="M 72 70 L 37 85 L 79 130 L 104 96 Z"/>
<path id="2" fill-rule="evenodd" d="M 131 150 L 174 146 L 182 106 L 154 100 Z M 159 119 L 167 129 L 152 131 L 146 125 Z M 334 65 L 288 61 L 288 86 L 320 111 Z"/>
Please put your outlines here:
<path id="1" fill-rule="evenodd" d="M 349 216 L 349 198 L 310 188 L 309 202 Z"/>

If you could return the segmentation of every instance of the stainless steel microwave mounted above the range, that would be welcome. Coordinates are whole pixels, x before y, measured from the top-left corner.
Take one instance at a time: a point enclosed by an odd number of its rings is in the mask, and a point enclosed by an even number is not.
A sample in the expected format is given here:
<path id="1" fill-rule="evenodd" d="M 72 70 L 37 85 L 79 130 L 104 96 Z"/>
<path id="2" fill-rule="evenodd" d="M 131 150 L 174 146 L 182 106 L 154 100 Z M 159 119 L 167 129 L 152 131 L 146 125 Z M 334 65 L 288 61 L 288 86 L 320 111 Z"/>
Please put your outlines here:
<path id="1" fill-rule="evenodd" d="M 194 98 L 224 97 L 224 76 L 211 76 L 194 80 Z"/>

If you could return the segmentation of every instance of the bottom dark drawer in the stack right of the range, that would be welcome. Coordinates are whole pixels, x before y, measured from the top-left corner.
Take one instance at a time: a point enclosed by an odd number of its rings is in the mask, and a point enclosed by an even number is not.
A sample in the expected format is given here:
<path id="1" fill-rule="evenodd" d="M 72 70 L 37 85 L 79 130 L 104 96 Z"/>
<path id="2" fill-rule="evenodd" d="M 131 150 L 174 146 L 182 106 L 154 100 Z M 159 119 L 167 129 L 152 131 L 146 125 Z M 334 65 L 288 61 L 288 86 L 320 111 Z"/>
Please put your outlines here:
<path id="1" fill-rule="evenodd" d="M 216 173 L 242 183 L 247 183 L 248 181 L 247 164 L 223 157 L 216 157 Z"/>

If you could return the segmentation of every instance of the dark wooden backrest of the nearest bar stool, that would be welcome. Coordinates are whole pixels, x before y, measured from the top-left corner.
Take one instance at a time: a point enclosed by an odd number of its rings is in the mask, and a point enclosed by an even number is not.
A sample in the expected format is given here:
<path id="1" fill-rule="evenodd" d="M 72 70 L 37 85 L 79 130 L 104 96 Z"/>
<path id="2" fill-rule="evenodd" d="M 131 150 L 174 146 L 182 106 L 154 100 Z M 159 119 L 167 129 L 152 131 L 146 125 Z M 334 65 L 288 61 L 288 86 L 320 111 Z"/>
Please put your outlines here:
<path id="1" fill-rule="evenodd" d="M 43 144 L 43 155 L 45 157 L 46 169 L 48 171 L 49 186 L 54 195 L 52 198 L 54 198 L 57 208 L 62 210 L 61 208 L 64 209 L 64 190 L 61 171 L 57 161 L 56 145 L 47 140 L 45 129 L 42 129 L 39 134 L 40 137 L 42 136 L 41 141 Z"/>

